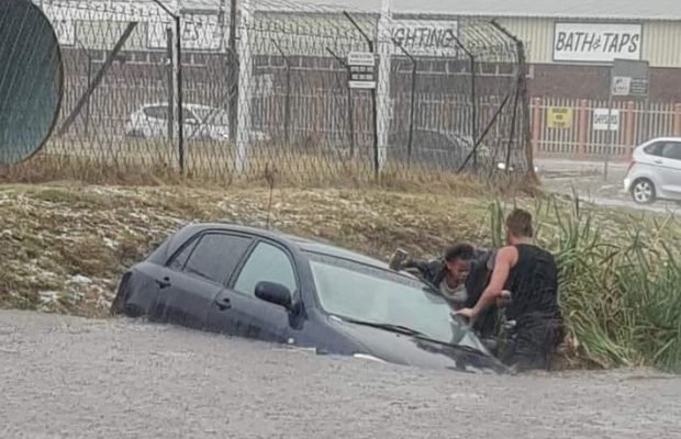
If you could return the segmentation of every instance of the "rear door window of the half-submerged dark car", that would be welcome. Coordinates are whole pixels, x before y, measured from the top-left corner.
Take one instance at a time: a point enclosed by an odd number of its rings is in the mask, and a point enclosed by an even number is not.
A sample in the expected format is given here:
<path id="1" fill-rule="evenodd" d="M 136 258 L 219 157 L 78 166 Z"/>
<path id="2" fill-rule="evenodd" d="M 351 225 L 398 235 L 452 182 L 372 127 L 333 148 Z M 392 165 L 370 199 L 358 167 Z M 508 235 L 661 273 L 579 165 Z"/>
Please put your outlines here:
<path id="1" fill-rule="evenodd" d="M 208 233 L 196 244 L 182 271 L 222 283 L 232 274 L 250 241 L 252 238 L 245 236 Z"/>

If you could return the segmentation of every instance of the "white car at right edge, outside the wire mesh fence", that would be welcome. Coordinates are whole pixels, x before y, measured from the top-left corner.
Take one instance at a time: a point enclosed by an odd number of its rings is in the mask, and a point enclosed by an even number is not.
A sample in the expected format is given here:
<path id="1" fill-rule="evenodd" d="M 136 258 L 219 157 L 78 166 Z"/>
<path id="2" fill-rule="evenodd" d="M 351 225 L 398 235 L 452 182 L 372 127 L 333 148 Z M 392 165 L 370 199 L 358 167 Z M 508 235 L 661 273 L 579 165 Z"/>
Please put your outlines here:
<path id="1" fill-rule="evenodd" d="M 624 190 L 639 204 L 681 203 L 681 137 L 660 137 L 634 149 Z"/>

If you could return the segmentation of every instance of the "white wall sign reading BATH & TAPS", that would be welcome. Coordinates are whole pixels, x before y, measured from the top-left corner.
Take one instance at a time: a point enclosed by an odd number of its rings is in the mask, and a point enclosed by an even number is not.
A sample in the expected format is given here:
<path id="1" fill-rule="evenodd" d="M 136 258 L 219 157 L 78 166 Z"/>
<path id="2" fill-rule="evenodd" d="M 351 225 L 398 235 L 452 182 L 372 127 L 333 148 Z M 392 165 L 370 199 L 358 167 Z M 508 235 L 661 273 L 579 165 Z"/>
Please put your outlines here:
<path id="1" fill-rule="evenodd" d="M 641 57 L 643 26 L 625 23 L 556 23 L 554 60 L 612 63 Z"/>

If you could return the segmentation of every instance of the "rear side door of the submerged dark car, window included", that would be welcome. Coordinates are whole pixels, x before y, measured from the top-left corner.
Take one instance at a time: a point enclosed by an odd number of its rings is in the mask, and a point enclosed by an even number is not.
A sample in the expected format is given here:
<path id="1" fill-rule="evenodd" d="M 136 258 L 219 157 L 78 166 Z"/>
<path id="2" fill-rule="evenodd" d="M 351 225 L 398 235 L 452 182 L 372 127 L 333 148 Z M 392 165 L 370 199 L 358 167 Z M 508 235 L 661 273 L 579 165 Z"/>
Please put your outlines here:
<path id="1" fill-rule="evenodd" d="M 150 317 L 204 329 L 209 311 L 253 238 L 206 232 L 191 238 L 160 271 L 156 306 Z"/>

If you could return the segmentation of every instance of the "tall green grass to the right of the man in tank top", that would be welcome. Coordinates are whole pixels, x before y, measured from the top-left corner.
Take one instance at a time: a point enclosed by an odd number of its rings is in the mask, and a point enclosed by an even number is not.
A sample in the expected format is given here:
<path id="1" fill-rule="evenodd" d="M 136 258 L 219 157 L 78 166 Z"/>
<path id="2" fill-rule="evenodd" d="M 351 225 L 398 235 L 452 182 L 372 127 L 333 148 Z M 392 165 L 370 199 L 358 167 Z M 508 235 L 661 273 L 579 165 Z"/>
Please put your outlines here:
<path id="1" fill-rule="evenodd" d="M 574 352 L 598 367 L 681 372 L 681 227 L 672 216 L 537 200 L 537 239 L 559 264 L 560 302 Z M 490 209 L 501 244 L 504 206 Z"/>

